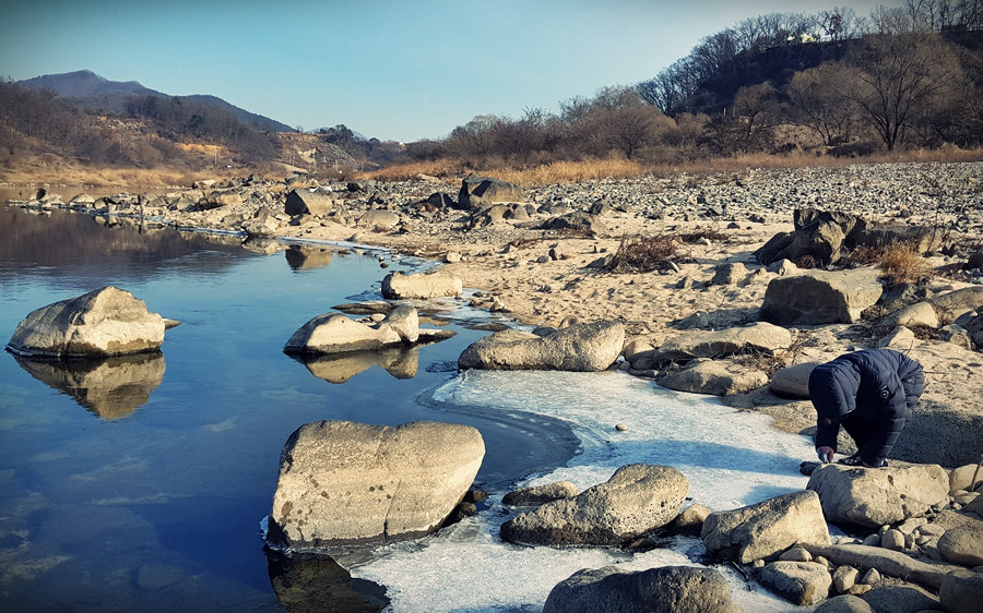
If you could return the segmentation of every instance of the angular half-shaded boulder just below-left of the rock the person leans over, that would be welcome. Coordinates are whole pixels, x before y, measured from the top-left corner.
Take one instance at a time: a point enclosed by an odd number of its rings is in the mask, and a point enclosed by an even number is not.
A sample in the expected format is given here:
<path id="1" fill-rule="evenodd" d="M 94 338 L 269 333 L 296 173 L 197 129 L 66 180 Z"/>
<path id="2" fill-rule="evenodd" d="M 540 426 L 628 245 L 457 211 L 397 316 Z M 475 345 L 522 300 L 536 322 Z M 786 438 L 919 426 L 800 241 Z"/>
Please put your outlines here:
<path id="1" fill-rule="evenodd" d="M 807 490 L 711 513 L 700 539 L 712 554 L 741 564 L 777 557 L 796 543 L 830 543 L 819 496 Z"/>

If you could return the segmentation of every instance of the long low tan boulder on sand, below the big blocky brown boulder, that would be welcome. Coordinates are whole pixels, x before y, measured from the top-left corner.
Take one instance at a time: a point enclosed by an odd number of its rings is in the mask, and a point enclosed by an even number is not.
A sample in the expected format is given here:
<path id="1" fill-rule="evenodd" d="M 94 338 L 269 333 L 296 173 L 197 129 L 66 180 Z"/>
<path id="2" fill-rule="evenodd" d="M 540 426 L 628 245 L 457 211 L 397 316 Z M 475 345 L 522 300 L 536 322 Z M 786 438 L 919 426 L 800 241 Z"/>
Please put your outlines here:
<path id="1" fill-rule="evenodd" d="M 655 362 L 723 358 L 749 351 L 774 353 L 792 345 L 792 334 L 780 326 L 756 322 L 721 330 L 694 329 L 674 336 L 652 354 Z"/>

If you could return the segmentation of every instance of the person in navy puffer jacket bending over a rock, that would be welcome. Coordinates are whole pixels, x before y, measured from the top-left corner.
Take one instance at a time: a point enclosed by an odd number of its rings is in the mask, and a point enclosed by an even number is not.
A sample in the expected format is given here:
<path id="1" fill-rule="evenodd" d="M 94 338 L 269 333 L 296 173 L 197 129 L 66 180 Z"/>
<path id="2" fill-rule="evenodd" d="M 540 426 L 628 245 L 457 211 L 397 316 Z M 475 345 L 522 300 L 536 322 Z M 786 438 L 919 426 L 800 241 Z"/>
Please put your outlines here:
<path id="1" fill-rule="evenodd" d="M 809 375 L 816 407 L 816 447 L 837 448 L 848 413 L 876 420 L 861 459 L 873 466 L 890 453 L 925 390 L 922 364 L 892 349 L 864 349 L 820 364 Z"/>

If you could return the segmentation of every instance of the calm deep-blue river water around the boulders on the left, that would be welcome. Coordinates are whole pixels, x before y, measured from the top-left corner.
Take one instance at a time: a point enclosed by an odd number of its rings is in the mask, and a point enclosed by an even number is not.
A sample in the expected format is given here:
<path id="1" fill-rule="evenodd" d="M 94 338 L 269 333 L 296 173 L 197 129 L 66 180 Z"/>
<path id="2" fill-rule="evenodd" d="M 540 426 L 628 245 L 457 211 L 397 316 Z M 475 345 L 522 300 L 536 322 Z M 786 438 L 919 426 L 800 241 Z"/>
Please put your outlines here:
<path id="1" fill-rule="evenodd" d="M 378 299 L 382 276 L 412 263 L 239 242 L 0 209 L 0 342 L 32 310 L 105 285 L 181 322 L 135 359 L 0 352 L 0 610 L 280 610 L 258 524 L 282 445 L 309 421 L 474 425 L 487 447 L 477 481 L 494 489 L 569 457 L 575 441 L 548 418 L 418 399 L 485 334 L 459 321 L 454 338 L 400 357 L 418 361 L 410 378 L 353 365 L 334 384 L 282 353 L 307 320 Z"/>

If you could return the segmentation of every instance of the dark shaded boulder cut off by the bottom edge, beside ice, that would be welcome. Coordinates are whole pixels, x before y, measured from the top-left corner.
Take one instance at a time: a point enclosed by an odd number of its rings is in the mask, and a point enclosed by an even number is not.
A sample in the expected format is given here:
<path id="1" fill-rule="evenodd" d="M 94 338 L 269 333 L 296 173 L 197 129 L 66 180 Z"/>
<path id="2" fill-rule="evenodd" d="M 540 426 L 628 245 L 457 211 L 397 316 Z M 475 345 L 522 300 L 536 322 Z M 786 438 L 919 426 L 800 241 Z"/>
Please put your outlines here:
<path id="1" fill-rule="evenodd" d="M 719 570 L 661 566 L 630 573 L 617 566 L 578 570 L 550 590 L 543 613 L 736 613 Z"/>

